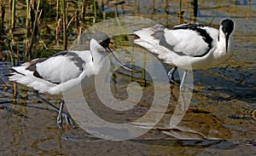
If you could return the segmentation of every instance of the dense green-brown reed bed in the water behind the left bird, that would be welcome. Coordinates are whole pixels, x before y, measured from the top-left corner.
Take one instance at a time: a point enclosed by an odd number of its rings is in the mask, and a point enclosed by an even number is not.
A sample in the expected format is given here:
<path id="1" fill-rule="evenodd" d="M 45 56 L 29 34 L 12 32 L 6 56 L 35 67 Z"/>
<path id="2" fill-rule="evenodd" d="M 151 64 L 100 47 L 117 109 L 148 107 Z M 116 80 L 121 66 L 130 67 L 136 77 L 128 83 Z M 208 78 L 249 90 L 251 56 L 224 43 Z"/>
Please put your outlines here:
<path id="1" fill-rule="evenodd" d="M 47 56 L 46 50 L 49 55 L 66 50 L 68 38 L 78 37 L 96 19 L 96 8 L 93 0 L 0 0 L 0 61 L 29 61 Z"/>

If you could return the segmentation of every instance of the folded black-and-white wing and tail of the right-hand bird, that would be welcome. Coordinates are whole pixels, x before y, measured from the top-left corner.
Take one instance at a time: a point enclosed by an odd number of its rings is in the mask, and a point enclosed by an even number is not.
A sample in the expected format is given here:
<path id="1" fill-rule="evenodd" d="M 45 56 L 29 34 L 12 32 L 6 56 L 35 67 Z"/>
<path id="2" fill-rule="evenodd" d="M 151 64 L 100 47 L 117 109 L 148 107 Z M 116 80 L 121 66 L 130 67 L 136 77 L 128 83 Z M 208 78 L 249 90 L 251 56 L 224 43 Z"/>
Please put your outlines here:
<path id="1" fill-rule="evenodd" d="M 137 32 L 139 38 L 135 43 L 159 55 L 160 59 L 168 61 L 177 56 L 199 57 L 207 55 L 212 49 L 212 35 L 218 35 L 218 30 L 207 26 L 183 24 L 168 29 L 156 25 L 143 28 Z"/>

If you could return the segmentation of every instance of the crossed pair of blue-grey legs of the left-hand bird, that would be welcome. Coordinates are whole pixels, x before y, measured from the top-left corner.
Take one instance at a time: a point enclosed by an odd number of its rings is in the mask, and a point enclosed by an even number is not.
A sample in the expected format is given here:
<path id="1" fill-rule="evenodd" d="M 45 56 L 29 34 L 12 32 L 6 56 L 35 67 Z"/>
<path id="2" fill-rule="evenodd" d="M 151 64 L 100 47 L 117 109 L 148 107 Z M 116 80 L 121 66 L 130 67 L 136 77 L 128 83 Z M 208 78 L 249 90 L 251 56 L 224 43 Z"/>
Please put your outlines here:
<path id="1" fill-rule="evenodd" d="M 60 109 L 59 109 L 58 107 L 55 107 L 54 104 L 50 103 L 49 101 L 47 101 L 46 99 L 44 99 L 44 97 L 42 97 L 41 95 L 39 95 L 39 94 L 38 94 L 38 91 L 36 92 L 36 94 L 37 94 L 38 98 L 39 98 L 41 101 L 47 103 L 50 107 L 53 107 L 53 108 L 55 109 L 55 111 L 59 113 L 58 118 L 57 118 L 57 124 L 58 124 L 58 125 L 59 125 L 59 119 L 60 119 L 61 117 L 64 117 L 69 125 L 71 125 L 72 127 L 75 127 L 75 124 L 74 124 L 73 119 L 71 118 L 71 116 L 70 116 L 68 113 L 66 113 L 66 112 L 63 111 L 64 101 L 61 101 L 61 107 L 60 107 Z M 61 109 L 62 109 L 62 110 L 61 110 Z M 60 115 L 60 114 L 61 114 L 61 115 Z M 62 118 L 61 118 L 61 124 L 62 124 Z M 59 127 L 60 127 L 60 125 L 59 125 Z"/>

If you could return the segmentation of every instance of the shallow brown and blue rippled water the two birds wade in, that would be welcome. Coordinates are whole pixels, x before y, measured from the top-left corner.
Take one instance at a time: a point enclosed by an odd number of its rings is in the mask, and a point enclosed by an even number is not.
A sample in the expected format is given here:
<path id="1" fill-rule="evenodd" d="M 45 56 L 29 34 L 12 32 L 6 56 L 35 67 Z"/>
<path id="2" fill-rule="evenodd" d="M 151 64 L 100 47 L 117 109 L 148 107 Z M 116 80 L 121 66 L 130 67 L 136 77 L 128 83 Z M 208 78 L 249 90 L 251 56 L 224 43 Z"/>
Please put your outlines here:
<path id="1" fill-rule="evenodd" d="M 178 11 L 177 2 L 167 3 L 170 14 L 166 14 L 162 7 L 163 1 L 153 1 L 154 4 L 151 1 L 146 4 L 142 2 L 127 1 L 124 7 L 119 8 L 119 15 L 142 15 L 165 26 L 179 22 L 177 15 L 171 14 Z M 218 1 L 200 3 L 196 22 L 207 24 L 216 15 L 212 26 L 218 27 L 225 17 L 235 20 L 235 54 L 222 66 L 193 72 L 192 99 L 188 111 L 174 129 L 168 128 L 168 125 L 178 106 L 180 92 L 177 84 L 170 84 L 170 101 L 165 116 L 152 130 L 128 141 L 102 140 L 90 136 L 80 127 L 72 129 L 65 122 L 64 130 L 59 130 L 57 113 L 38 101 L 33 90 L 9 82 L 5 77 L 9 73 L 9 62 L 0 62 L 1 79 L 9 86 L 0 83 L 1 155 L 255 155 L 256 3 L 247 0 L 224 1 L 218 13 L 217 6 Z M 193 22 L 190 5 L 184 3 L 183 9 L 183 20 Z M 118 49 L 129 42 L 115 38 L 115 44 L 117 46 L 113 48 Z M 150 60 L 147 62 L 150 65 Z M 166 70 L 172 67 L 164 66 Z M 134 122 L 147 113 L 154 96 L 154 78 L 147 76 L 145 82 L 141 77 L 142 74 L 137 73 L 131 79 L 130 72 L 120 69 L 114 72 L 111 79 L 113 95 L 121 100 L 127 98 L 125 89 L 131 81 L 137 81 L 142 86 L 146 84 L 141 101 L 131 111 L 119 113 L 108 110 L 100 105 L 95 93 L 87 96 L 86 101 L 99 117 L 108 122 Z M 59 99 L 49 95 L 44 97 L 59 106 Z M 137 126 L 147 128 L 152 121 L 152 118 L 148 118 L 148 121 L 137 123 Z"/>

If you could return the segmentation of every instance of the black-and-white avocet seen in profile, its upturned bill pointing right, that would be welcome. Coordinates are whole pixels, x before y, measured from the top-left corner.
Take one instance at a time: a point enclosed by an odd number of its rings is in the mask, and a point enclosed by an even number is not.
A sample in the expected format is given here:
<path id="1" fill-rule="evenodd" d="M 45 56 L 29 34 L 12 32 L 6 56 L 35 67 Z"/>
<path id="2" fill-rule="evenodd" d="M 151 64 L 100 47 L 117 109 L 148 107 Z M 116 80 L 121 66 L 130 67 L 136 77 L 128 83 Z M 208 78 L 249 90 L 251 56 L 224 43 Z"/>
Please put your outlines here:
<path id="1" fill-rule="evenodd" d="M 104 59 L 108 53 L 113 55 L 109 43 L 110 38 L 106 33 L 96 32 L 90 39 L 90 50 L 61 52 L 47 59 L 35 59 L 21 66 L 15 66 L 12 68 L 14 72 L 9 74 L 9 80 L 49 95 L 62 96 L 63 91 L 68 91 L 70 95 L 78 95 L 79 88 L 82 88 L 84 93 L 90 92 L 95 90 L 95 76 L 103 70 L 108 70 L 110 65 L 109 59 Z M 115 55 L 113 57 L 117 60 Z M 121 66 L 130 70 L 123 64 Z M 63 104 L 64 101 L 61 102 L 57 118 L 60 127 Z M 66 117 L 68 122 L 71 121 L 73 124 L 72 119 Z"/>

